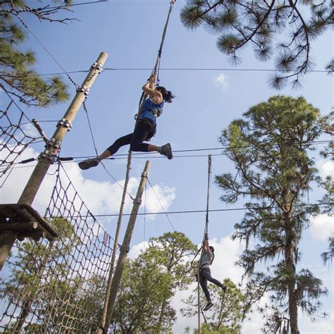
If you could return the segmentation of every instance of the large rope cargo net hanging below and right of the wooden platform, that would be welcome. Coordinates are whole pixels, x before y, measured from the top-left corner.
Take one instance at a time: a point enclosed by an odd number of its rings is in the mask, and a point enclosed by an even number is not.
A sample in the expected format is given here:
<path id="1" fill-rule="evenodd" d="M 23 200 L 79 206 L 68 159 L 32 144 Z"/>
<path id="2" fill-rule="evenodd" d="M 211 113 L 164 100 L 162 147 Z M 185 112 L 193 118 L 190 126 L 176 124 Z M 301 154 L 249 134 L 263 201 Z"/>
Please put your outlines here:
<path id="1" fill-rule="evenodd" d="M 94 333 L 113 242 L 60 162 L 45 217 L 58 237 L 17 242 L 7 261 L 0 333 Z"/>

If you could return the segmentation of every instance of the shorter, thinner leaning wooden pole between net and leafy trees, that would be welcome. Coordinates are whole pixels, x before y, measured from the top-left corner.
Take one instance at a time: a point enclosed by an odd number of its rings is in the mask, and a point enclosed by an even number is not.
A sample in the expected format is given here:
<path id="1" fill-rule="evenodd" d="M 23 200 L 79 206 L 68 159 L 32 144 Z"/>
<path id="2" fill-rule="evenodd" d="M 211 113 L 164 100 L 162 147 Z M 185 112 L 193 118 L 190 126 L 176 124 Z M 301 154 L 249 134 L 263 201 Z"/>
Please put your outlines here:
<path id="1" fill-rule="evenodd" d="M 128 222 L 128 227 L 124 235 L 123 245 L 122 247 L 120 247 L 120 254 L 118 256 L 115 273 L 113 274 L 113 280 L 111 282 L 111 291 L 110 291 L 110 297 L 109 297 L 108 310 L 106 314 L 106 323 L 104 325 L 105 331 L 107 331 L 107 328 L 109 327 L 109 323 L 111 321 L 111 316 L 113 315 L 113 307 L 116 301 L 116 295 L 118 292 L 118 287 L 120 285 L 120 279 L 122 278 L 125 260 L 130 250 L 130 242 L 131 242 L 133 228 L 135 228 L 137 213 L 139 211 L 140 204 L 142 202 L 142 194 L 144 192 L 144 188 L 146 185 L 147 176 L 149 175 L 149 166 L 150 166 L 150 162 L 146 161 L 145 168 L 142 173 L 142 179 L 140 180 L 140 185 L 137 190 L 137 195 L 136 195 L 135 201 L 132 206 L 132 211 L 131 211 L 131 216 Z M 102 330 L 101 329 L 98 330 L 97 333 L 102 333 Z"/>

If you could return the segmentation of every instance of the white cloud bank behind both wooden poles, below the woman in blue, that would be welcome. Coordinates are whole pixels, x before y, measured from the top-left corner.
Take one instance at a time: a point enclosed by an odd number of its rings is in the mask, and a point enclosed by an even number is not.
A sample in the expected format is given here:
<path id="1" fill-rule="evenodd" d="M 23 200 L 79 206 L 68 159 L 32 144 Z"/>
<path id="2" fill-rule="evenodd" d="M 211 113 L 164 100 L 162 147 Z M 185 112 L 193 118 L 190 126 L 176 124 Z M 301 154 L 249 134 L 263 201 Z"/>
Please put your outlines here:
<path id="1" fill-rule="evenodd" d="M 38 153 L 31 148 L 25 149 L 20 156 L 20 161 L 31 157 L 38 156 Z M 29 165 L 23 165 L 26 167 Z M 30 164 L 31 166 L 31 164 Z M 32 168 L 14 168 L 9 176 L 8 180 L 1 189 L 1 202 L 3 203 L 16 203 L 20 194 L 23 192 L 25 184 L 29 179 Z M 95 181 L 85 178 L 85 174 L 82 173 L 77 163 L 64 163 L 63 168 L 66 171 L 67 176 L 61 169 L 61 185 L 66 188 L 66 199 L 70 200 L 73 197 L 75 190 L 80 194 L 80 198 L 88 206 L 89 211 L 92 214 L 118 214 L 120 207 L 120 200 L 123 194 L 124 180 L 118 180 L 118 183 L 111 183 L 108 181 Z M 45 208 L 49 204 L 51 192 L 56 181 L 56 164 L 50 166 L 49 173 L 43 180 L 43 183 L 37 192 L 33 206 L 37 211 L 44 214 Z M 68 187 L 69 182 L 73 184 L 73 187 Z M 140 183 L 139 178 L 132 177 L 128 183 L 128 193 L 135 197 L 137 187 Z M 15 187 L 13 186 L 15 185 Z M 175 189 L 166 185 L 152 185 L 154 192 L 151 188 L 147 190 L 146 208 L 147 212 L 161 212 L 163 209 L 168 210 L 169 206 L 175 199 Z M 159 200 L 157 199 L 159 198 Z M 77 197 L 76 204 L 81 202 Z M 161 209 L 161 202 L 163 209 Z M 125 199 L 124 212 L 130 211 L 132 208 L 132 199 L 127 196 Z"/>

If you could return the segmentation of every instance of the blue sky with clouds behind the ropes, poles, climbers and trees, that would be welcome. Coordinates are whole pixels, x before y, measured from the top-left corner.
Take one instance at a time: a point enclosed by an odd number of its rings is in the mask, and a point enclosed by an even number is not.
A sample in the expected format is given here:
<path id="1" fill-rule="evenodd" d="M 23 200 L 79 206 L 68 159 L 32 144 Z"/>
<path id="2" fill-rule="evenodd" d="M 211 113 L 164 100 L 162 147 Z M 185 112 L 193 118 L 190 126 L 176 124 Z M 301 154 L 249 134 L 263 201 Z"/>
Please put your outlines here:
<path id="1" fill-rule="evenodd" d="M 31 1 L 35 3 L 35 1 Z M 45 1 L 47 2 L 47 1 Z M 80 1 L 75 1 L 78 3 Z M 83 2 L 83 1 L 81 1 Z M 221 130 L 235 118 L 240 118 L 250 106 L 266 101 L 276 94 L 292 97 L 304 96 L 316 106 L 321 114 L 328 114 L 333 105 L 333 79 L 326 73 L 308 73 L 302 79 L 303 88 L 292 90 L 287 87 L 281 91 L 270 89 L 267 84 L 269 72 L 266 71 L 233 71 L 226 56 L 216 49 L 216 37 L 209 35 L 202 28 L 188 31 L 180 23 L 180 9 L 185 4 L 178 0 L 173 9 L 168 26 L 166 42 L 161 60 L 161 85 L 175 94 L 172 104 L 167 104 L 163 115 L 158 120 L 158 132 L 152 143 L 171 142 L 174 150 L 201 149 L 219 147 L 218 137 Z M 87 70 L 97 59 L 101 51 L 109 54 L 104 67 L 116 70 L 105 70 L 95 81 L 86 101 L 89 118 L 92 123 L 94 140 L 99 153 L 109 147 L 113 140 L 132 132 L 135 125 L 133 116 L 137 112 L 141 87 L 146 82 L 151 68 L 156 61 L 161 40 L 161 32 L 169 8 L 168 0 L 115 0 L 100 4 L 73 7 L 68 17 L 77 18 L 68 25 L 58 23 L 39 23 L 31 16 L 22 16 L 25 23 L 37 35 L 58 63 L 67 71 Z M 62 72 L 56 62 L 42 49 L 38 42 L 27 32 L 26 46 L 36 52 L 40 73 Z M 333 32 L 328 31 L 312 44 L 312 58 L 316 63 L 314 69 L 323 70 L 333 54 Z M 238 69 L 273 69 L 271 61 L 260 63 L 247 47 L 242 54 L 242 64 Z M 124 70 L 124 69 L 149 70 Z M 225 70 L 194 70 L 201 68 L 221 68 Z M 122 70 L 123 69 L 123 70 Z M 163 70 L 178 69 L 178 70 Z M 183 69 L 183 70 L 180 70 Z M 232 69 L 232 70 L 228 70 Z M 85 78 L 84 73 L 70 74 L 76 83 Z M 66 76 L 63 79 L 68 82 Z M 75 94 L 73 85 L 68 82 L 71 99 Z M 4 94 L 1 94 L 1 99 Z M 6 103 L 5 98 L 3 99 Z M 59 104 L 49 109 L 23 109 L 30 118 L 37 120 L 58 120 L 63 116 L 69 103 Z M 41 123 L 44 132 L 51 136 L 54 123 Z M 328 140 L 330 138 L 323 137 Z M 32 151 L 34 149 L 34 151 Z M 42 147 L 35 145 L 25 151 L 24 157 L 37 156 Z M 127 154 L 128 148 L 118 153 Z M 187 154 L 175 153 L 172 161 L 154 155 L 151 159 L 149 180 L 154 186 L 166 211 L 191 211 L 206 208 L 207 154 L 219 154 L 221 150 L 190 152 L 196 157 L 180 157 Z M 87 119 L 80 109 L 63 142 L 62 156 L 93 156 L 94 147 L 90 137 Z M 157 158 L 155 158 L 157 157 Z M 333 163 L 325 163 L 316 155 L 318 168 L 325 175 L 333 175 Z M 140 174 L 146 159 L 132 159 L 130 191 L 135 193 Z M 122 182 L 125 177 L 125 159 L 106 161 L 106 167 L 114 178 Z M 31 164 L 33 166 L 33 163 Z M 67 163 L 68 173 L 79 190 L 85 203 L 93 214 L 116 214 L 120 204 L 121 190 L 101 166 L 89 171 L 80 171 L 77 163 Z M 224 155 L 213 156 L 213 175 L 228 171 L 233 172 L 233 165 Z M 1 202 L 16 202 L 32 168 L 13 171 L 1 195 Z M 11 180 L 20 180 L 18 187 L 9 187 Z M 42 209 L 46 204 L 52 180 L 47 179 L 43 185 L 35 206 Z M 210 209 L 233 209 L 242 203 L 226 205 L 219 201 L 221 191 L 216 185 L 211 186 Z M 310 202 L 321 197 L 316 186 L 310 193 Z M 131 203 L 127 202 L 125 212 L 130 212 Z M 142 210 L 144 208 L 142 207 Z M 147 211 L 161 211 L 150 187 L 147 187 Z M 237 254 L 242 245 L 232 242 L 229 235 L 233 226 L 242 218 L 242 211 L 223 211 L 209 216 L 209 237 L 220 252 L 216 252 L 216 263 L 212 273 L 217 278 L 231 277 L 240 280 L 242 271 L 234 266 Z M 190 237 L 192 242 L 202 242 L 205 214 L 171 214 L 168 215 L 175 230 Z M 101 218 L 104 228 L 113 235 L 116 218 Z M 123 219 L 123 226 L 127 218 Z M 333 266 L 323 266 L 320 254 L 328 247 L 330 226 L 333 220 L 326 216 L 316 218 L 310 230 L 304 234 L 301 244 L 302 264 L 310 268 L 328 287 L 328 297 L 323 299 L 323 311 L 330 314 L 326 320 L 310 323 L 301 318 L 302 333 L 331 333 L 333 309 Z M 133 254 L 141 245 L 144 237 L 162 235 L 173 230 L 165 215 L 143 216 L 137 219 L 132 237 Z M 134 255 L 133 255 L 134 256 Z M 191 289 L 190 289 L 191 291 Z M 180 306 L 180 296 L 175 298 L 175 307 Z M 242 333 L 258 333 L 261 318 L 249 321 Z M 196 326 L 196 319 L 180 317 L 175 325 L 175 333 L 182 333 L 185 326 Z"/>

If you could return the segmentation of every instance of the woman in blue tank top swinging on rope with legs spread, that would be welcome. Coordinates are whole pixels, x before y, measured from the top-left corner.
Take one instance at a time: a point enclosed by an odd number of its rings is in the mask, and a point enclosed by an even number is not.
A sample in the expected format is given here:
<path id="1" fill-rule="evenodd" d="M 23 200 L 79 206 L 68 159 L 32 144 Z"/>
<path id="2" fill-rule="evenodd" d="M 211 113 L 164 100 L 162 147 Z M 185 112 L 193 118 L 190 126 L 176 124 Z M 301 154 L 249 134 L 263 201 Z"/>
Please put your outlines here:
<path id="1" fill-rule="evenodd" d="M 155 135 L 156 132 L 156 118 L 161 116 L 163 110 L 163 103 L 171 103 L 173 94 L 165 87 L 154 87 L 156 80 L 155 75 L 147 80 L 147 83 L 142 87 L 144 93 L 148 95 L 147 99 L 140 106 L 139 116 L 135 125 L 134 132 L 129 135 L 118 138 L 108 149 L 96 158 L 86 159 L 79 163 L 81 169 L 88 169 L 97 166 L 101 160 L 108 158 L 115 154 L 120 147 L 130 144 L 131 151 L 142 152 L 159 152 L 168 159 L 173 159 L 171 144 L 167 143 L 161 147 L 153 144 L 144 143 Z"/>

